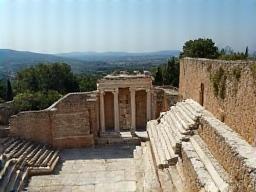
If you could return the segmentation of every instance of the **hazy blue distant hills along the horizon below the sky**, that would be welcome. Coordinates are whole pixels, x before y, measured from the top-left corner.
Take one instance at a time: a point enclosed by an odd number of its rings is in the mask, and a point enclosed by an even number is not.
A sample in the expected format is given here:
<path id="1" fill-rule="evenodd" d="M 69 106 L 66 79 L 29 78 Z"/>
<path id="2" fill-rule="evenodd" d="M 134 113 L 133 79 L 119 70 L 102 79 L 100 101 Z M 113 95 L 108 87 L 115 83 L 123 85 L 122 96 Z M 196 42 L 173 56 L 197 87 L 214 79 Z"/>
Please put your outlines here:
<path id="1" fill-rule="evenodd" d="M 179 51 L 176 50 L 148 53 L 71 52 L 62 54 L 42 54 L 0 49 L 0 77 L 6 74 L 14 74 L 20 69 L 39 63 L 54 62 L 67 63 L 76 73 L 124 68 L 149 68 L 166 63 L 167 58 L 178 55 Z"/>

